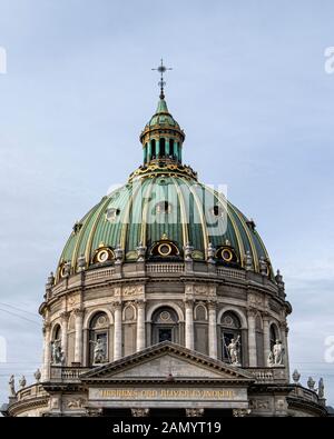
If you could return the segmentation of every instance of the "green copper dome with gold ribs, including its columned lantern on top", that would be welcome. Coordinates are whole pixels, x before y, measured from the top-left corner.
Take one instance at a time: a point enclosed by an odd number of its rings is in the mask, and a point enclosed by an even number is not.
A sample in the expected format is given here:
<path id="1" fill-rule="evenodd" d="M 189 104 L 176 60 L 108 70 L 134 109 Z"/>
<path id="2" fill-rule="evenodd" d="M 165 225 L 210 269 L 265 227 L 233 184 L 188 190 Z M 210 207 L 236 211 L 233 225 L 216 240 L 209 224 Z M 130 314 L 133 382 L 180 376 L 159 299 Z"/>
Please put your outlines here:
<path id="1" fill-rule="evenodd" d="M 73 230 L 57 280 L 82 269 L 137 261 L 209 261 L 273 278 L 255 223 L 181 162 L 185 133 L 160 96 L 140 136 L 144 163 Z"/>

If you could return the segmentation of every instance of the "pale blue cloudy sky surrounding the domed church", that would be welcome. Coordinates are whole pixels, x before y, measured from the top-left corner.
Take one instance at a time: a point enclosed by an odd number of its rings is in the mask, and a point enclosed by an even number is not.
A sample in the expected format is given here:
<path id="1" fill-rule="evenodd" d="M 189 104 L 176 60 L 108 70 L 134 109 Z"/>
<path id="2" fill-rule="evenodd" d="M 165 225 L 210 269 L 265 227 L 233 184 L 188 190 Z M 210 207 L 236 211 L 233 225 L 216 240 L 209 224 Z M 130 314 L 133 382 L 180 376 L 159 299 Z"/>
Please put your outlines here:
<path id="1" fill-rule="evenodd" d="M 333 20 L 332 0 L 0 0 L 1 402 L 40 366 L 72 225 L 141 162 L 164 57 L 184 161 L 255 219 L 294 309 L 291 370 L 334 405 Z"/>

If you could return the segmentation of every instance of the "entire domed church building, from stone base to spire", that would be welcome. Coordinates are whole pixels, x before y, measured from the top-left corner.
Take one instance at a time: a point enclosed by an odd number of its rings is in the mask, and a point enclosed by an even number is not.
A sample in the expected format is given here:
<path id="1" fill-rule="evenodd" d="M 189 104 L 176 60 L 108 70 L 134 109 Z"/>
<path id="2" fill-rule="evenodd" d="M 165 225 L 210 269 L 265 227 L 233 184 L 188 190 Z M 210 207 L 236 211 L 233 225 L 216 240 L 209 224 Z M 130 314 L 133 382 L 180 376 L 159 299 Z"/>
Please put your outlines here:
<path id="1" fill-rule="evenodd" d="M 323 390 L 289 382 L 282 275 L 254 221 L 183 164 L 184 140 L 161 88 L 143 164 L 48 278 L 42 376 L 12 378 L 3 415 L 326 415 Z"/>

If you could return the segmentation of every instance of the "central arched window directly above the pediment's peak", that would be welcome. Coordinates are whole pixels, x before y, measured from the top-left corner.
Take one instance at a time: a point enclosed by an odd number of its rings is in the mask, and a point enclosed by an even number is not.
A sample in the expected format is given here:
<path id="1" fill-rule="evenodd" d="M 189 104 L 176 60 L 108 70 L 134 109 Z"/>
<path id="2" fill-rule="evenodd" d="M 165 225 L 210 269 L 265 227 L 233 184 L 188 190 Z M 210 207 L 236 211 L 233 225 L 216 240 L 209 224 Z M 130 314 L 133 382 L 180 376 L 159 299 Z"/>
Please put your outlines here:
<path id="1" fill-rule="evenodd" d="M 153 345 L 163 341 L 178 342 L 178 318 L 174 309 L 163 307 L 153 315 Z"/>

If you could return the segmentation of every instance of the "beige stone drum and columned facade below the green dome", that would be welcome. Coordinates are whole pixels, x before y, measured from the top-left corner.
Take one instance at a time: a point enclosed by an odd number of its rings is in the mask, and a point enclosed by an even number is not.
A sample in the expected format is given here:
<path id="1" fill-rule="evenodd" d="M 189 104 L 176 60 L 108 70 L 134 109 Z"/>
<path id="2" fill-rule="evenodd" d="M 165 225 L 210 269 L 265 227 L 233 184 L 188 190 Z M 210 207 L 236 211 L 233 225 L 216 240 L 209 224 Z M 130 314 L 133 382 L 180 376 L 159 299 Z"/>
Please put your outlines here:
<path id="1" fill-rule="evenodd" d="M 222 416 L 325 416 L 315 391 L 289 383 L 287 356 L 282 366 L 264 363 L 272 325 L 287 352 L 291 307 L 277 287 L 254 272 L 240 271 L 236 278 L 197 266 L 189 276 L 183 263 L 155 265 L 154 270 L 149 263 L 121 265 L 48 288 L 40 308 L 41 383 L 20 390 L 6 413 L 112 416 L 112 410 L 127 409 L 131 416 L 149 416 L 151 408 L 169 407 L 183 409 L 184 416 L 205 416 L 210 409 L 220 409 Z M 223 352 L 224 316 L 230 312 L 239 322 L 239 367 L 228 365 Z M 159 330 L 168 330 L 171 340 L 158 340 Z M 95 335 L 106 338 L 99 363 L 92 357 Z M 61 365 L 52 362 L 56 337 Z M 128 393 L 117 396 L 119 380 Z"/>

